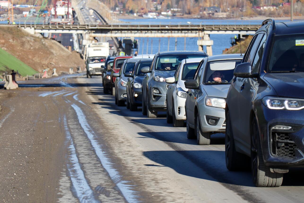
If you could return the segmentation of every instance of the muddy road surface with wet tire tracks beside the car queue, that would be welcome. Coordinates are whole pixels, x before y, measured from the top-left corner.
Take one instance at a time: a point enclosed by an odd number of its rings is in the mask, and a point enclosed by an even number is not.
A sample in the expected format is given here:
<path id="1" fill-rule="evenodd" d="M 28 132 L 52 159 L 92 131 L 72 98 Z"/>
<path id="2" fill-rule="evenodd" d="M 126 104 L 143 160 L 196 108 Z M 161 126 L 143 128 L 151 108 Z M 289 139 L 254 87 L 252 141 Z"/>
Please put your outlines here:
<path id="1" fill-rule="evenodd" d="M 304 170 L 254 187 L 249 171 L 226 169 L 223 134 L 196 145 L 164 114 L 117 107 L 101 81 L 61 75 L 0 90 L 0 201 L 304 201 Z"/>

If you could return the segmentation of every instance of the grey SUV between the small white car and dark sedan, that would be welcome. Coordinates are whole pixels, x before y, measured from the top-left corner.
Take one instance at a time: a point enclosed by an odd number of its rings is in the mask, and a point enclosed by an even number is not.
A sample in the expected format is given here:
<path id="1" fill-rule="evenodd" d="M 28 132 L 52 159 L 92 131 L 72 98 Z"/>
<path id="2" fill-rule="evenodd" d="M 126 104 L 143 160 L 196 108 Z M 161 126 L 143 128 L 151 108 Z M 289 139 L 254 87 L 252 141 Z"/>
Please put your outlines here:
<path id="1" fill-rule="evenodd" d="M 208 55 L 203 51 L 164 51 L 155 54 L 152 65 L 141 69 L 147 73 L 143 79 L 143 114 L 148 118 L 155 118 L 158 111 L 166 111 L 169 84 L 165 79 L 173 77 L 183 59 L 206 56 Z"/>

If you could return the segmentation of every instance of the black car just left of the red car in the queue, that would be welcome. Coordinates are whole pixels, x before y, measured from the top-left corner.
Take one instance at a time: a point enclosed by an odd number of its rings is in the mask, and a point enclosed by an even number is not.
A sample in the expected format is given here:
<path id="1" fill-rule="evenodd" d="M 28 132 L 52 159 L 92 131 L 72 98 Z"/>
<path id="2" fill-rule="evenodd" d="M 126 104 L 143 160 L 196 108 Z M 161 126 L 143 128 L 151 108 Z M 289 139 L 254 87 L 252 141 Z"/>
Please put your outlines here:
<path id="1" fill-rule="evenodd" d="M 117 56 L 107 56 L 105 58 L 105 67 L 102 67 L 102 86 L 103 93 L 109 93 L 111 86 L 111 71 L 113 68 L 113 61 Z M 110 65 L 110 66 L 109 66 Z"/>

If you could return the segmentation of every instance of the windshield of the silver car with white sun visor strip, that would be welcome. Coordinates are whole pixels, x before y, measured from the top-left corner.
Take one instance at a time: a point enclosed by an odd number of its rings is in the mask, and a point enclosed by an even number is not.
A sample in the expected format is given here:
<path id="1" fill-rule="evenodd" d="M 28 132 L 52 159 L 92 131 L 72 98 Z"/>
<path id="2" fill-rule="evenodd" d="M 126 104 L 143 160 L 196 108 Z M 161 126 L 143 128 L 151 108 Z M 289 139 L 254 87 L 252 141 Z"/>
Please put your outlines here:
<path id="1" fill-rule="evenodd" d="M 204 84 L 230 84 L 234 68 L 241 63 L 238 60 L 209 61 L 204 73 Z"/>

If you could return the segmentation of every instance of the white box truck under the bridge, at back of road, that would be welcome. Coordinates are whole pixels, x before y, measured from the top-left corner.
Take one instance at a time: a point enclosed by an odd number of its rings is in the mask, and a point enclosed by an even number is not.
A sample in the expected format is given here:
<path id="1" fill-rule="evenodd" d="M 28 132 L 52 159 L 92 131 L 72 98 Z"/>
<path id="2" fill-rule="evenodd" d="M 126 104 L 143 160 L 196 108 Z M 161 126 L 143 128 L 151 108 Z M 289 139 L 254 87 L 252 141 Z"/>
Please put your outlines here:
<path id="1" fill-rule="evenodd" d="M 86 48 L 87 78 L 93 75 L 101 75 L 101 66 L 105 65 L 105 58 L 109 56 L 109 43 L 91 43 Z"/>

